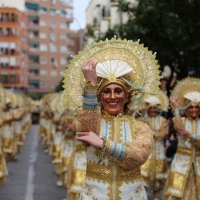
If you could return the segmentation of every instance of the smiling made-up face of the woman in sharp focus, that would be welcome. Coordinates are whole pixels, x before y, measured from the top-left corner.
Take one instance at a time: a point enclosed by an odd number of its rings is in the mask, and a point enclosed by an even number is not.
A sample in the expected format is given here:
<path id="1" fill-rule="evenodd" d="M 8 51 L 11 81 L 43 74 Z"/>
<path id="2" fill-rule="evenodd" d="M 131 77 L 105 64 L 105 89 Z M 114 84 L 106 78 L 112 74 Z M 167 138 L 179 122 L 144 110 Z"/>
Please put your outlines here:
<path id="1" fill-rule="evenodd" d="M 100 94 L 103 110 L 113 116 L 123 112 L 124 105 L 128 102 L 127 96 L 124 88 L 118 84 L 104 87 Z"/>

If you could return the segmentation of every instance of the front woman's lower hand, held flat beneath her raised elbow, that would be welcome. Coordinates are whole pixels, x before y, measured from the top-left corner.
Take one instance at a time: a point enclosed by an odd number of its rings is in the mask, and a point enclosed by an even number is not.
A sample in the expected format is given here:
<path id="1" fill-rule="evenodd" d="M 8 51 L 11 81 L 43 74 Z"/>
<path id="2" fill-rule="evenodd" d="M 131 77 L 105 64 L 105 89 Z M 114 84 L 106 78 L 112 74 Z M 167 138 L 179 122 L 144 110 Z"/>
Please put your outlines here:
<path id="1" fill-rule="evenodd" d="M 95 148 L 102 148 L 103 146 L 103 139 L 101 139 L 98 135 L 94 132 L 77 132 L 76 139 L 78 141 L 85 142 L 87 144 L 91 144 Z"/>

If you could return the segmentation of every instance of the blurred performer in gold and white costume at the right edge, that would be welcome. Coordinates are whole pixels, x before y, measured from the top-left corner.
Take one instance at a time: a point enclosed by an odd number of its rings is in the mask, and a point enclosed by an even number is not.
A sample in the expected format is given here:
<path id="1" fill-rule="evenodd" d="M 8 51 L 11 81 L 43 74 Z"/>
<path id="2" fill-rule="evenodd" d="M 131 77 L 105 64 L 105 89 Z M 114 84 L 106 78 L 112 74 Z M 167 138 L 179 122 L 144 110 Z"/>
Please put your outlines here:
<path id="1" fill-rule="evenodd" d="M 171 94 L 178 148 L 164 189 L 164 200 L 200 200 L 200 79 L 179 81 Z M 179 115 L 184 111 L 184 117 Z"/>

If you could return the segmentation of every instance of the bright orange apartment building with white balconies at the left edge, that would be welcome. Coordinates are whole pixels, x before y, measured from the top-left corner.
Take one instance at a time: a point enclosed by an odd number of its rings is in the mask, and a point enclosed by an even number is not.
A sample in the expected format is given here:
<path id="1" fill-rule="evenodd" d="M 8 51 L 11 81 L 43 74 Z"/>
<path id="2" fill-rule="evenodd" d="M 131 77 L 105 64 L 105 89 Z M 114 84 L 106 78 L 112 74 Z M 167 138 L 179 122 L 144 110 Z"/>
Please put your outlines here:
<path id="1" fill-rule="evenodd" d="M 0 2 L 1 3 L 1 2 Z M 7 89 L 28 89 L 27 16 L 10 8 L 9 0 L 0 5 L 0 83 Z M 7 4 L 6 4 L 7 3 Z M 23 5 L 18 2 L 23 9 Z"/>

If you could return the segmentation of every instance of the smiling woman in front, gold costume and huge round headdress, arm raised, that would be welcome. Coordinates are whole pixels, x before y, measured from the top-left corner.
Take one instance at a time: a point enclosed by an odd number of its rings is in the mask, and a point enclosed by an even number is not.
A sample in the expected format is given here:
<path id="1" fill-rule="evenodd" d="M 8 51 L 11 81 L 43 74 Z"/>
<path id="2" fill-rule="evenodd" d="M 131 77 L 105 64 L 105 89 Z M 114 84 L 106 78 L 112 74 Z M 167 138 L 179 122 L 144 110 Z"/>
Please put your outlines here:
<path id="1" fill-rule="evenodd" d="M 147 199 L 140 166 L 151 153 L 152 131 L 128 112 L 135 94 L 157 93 L 156 63 L 138 42 L 113 38 L 88 46 L 65 71 L 64 94 L 81 106 L 76 139 L 87 156 L 79 199 Z"/>

